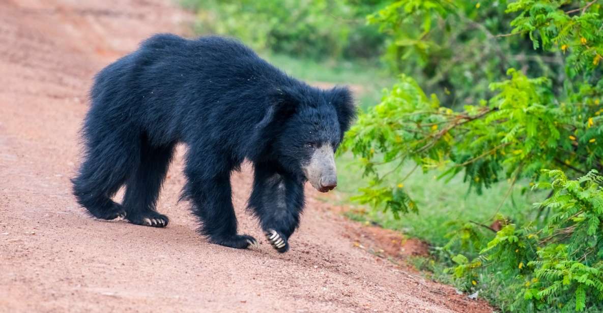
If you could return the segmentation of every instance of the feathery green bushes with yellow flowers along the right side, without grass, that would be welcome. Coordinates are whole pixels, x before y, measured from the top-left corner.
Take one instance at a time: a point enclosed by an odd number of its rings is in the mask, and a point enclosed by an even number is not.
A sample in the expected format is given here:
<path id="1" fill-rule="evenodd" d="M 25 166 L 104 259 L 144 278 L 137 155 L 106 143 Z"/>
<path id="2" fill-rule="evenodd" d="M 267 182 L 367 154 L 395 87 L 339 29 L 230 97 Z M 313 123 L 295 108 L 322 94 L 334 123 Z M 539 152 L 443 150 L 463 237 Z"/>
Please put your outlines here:
<path id="1" fill-rule="evenodd" d="M 407 162 L 462 175 L 477 194 L 500 182 L 505 197 L 517 184 L 549 189 L 520 216 L 458 222 L 436 249 L 460 287 L 503 311 L 603 309 L 600 2 L 402 0 L 368 17 L 405 75 L 342 145 L 368 178 L 355 200 L 420 210 Z"/>

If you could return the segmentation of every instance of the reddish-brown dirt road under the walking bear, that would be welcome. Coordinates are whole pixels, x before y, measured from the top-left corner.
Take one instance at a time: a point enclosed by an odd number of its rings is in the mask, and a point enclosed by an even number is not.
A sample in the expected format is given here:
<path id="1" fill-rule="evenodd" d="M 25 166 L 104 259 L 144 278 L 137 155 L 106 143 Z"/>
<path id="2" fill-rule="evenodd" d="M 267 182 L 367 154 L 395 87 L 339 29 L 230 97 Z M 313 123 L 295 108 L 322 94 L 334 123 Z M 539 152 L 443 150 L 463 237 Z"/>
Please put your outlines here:
<path id="1" fill-rule="evenodd" d="M 101 222 L 70 194 L 92 75 L 191 17 L 160 0 L 0 0 L 0 312 L 488 312 L 358 249 L 309 191 L 291 251 L 199 237 L 177 203 L 182 147 L 158 208 L 168 228 Z M 127 3 L 125 3 L 127 2 Z M 235 175 L 242 232 L 250 169 Z"/>

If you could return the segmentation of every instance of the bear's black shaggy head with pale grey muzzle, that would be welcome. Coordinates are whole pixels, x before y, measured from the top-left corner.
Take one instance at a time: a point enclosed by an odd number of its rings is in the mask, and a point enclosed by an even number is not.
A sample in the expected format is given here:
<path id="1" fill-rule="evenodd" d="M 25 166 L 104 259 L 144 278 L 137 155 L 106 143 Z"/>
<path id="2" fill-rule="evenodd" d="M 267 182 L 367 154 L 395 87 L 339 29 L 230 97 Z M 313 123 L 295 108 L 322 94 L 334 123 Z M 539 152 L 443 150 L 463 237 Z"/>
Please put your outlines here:
<path id="1" fill-rule="evenodd" d="M 318 191 L 337 185 L 335 151 L 356 116 L 347 87 L 321 90 L 308 85 L 279 88 L 260 122 L 268 155 L 290 175 Z"/>

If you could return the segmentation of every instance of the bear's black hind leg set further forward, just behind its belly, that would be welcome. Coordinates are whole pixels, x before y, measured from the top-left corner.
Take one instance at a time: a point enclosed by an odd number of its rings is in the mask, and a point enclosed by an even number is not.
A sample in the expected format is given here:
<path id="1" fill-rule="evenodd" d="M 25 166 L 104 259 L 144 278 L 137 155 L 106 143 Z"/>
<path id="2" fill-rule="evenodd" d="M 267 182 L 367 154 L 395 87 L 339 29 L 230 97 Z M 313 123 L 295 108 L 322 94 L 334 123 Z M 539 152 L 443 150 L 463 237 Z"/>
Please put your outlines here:
<path id="1" fill-rule="evenodd" d="M 156 211 L 159 191 L 174 155 L 174 144 L 151 147 L 142 139 L 140 163 L 134 175 L 126 182 L 123 206 L 130 223 L 153 227 L 168 226 L 166 215 Z"/>

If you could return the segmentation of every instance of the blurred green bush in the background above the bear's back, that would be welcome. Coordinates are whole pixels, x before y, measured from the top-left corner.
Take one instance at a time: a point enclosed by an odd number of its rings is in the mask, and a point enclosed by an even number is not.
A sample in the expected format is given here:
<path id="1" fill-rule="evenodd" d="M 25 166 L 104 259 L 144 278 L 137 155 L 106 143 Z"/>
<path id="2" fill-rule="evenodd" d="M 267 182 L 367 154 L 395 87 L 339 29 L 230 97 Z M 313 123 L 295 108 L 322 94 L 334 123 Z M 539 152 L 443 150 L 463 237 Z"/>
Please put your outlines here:
<path id="1" fill-rule="evenodd" d="M 183 0 L 197 11 L 197 33 L 234 36 L 255 49 L 317 60 L 378 57 L 384 36 L 364 22 L 378 2 Z"/>

